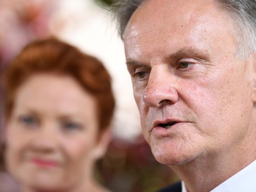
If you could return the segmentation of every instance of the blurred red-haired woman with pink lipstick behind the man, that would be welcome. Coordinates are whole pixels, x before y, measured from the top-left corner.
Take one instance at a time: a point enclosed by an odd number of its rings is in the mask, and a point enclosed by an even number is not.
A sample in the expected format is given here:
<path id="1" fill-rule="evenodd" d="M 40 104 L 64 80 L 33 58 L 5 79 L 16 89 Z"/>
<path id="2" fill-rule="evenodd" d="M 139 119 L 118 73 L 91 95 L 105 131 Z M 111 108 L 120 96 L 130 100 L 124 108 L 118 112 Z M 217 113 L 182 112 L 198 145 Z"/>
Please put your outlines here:
<path id="1" fill-rule="evenodd" d="M 57 39 L 34 41 L 3 73 L 7 170 L 23 192 L 105 192 L 94 163 L 110 141 L 110 76 Z"/>

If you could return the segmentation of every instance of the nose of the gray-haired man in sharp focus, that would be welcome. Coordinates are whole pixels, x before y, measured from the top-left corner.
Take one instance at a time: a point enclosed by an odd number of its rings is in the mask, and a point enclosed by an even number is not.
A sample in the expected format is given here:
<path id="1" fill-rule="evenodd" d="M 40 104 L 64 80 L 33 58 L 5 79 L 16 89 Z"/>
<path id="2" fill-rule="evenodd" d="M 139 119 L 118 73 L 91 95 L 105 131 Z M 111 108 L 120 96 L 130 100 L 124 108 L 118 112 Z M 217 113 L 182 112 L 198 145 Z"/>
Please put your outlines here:
<path id="1" fill-rule="evenodd" d="M 175 88 L 175 77 L 172 74 L 160 75 L 151 71 L 148 85 L 143 95 L 144 103 L 149 107 L 160 107 L 164 104 L 174 104 L 178 101 Z"/>

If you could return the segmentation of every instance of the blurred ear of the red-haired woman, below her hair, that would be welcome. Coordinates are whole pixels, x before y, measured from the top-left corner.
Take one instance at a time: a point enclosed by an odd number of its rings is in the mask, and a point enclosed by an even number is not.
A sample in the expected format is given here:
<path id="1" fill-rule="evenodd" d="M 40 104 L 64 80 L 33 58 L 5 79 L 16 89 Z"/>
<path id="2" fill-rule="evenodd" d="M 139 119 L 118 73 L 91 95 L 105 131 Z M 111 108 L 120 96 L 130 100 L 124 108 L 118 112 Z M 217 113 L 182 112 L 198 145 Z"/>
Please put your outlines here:
<path id="1" fill-rule="evenodd" d="M 105 128 L 99 135 L 97 145 L 93 152 L 94 158 L 99 159 L 105 155 L 107 152 L 108 144 L 110 143 L 112 138 L 112 132 L 110 127 Z"/>

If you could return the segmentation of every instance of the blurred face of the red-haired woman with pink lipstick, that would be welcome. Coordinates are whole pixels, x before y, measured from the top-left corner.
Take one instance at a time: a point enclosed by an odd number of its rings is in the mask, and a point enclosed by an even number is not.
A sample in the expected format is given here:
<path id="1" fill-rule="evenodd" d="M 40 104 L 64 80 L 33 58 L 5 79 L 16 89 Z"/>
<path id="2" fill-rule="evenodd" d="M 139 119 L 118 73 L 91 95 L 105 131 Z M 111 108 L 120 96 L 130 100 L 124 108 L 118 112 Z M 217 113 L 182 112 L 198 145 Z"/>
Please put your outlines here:
<path id="1" fill-rule="evenodd" d="M 85 182 L 103 147 L 95 99 L 70 76 L 36 74 L 24 82 L 6 134 L 8 170 L 35 189 Z"/>

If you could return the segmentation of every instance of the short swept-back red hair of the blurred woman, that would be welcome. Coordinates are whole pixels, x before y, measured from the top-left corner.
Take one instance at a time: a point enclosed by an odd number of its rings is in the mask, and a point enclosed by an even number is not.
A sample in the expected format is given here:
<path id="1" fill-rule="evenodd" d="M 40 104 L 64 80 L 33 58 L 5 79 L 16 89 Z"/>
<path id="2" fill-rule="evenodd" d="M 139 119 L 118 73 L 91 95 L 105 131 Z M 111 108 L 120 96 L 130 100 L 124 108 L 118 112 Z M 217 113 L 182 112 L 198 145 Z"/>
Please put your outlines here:
<path id="1" fill-rule="evenodd" d="M 108 127 L 115 105 L 110 75 L 99 60 L 55 38 L 28 44 L 3 70 L 6 119 L 13 110 L 17 89 L 36 73 L 56 73 L 75 78 L 95 98 L 99 129 Z"/>

